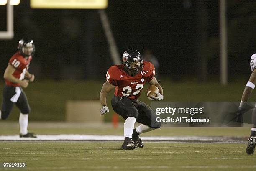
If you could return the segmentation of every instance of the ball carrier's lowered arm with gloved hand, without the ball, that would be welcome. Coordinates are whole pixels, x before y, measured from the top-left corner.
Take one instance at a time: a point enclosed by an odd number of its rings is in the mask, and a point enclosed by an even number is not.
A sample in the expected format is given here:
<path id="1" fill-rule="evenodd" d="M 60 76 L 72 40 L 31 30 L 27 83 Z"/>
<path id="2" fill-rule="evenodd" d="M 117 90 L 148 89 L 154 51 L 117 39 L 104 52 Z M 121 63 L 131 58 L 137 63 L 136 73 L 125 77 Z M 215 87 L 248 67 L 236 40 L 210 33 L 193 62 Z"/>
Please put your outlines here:
<path id="1" fill-rule="evenodd" d="M 113 88 L 115 88 L 115 86 L 113 86 L 107 81 L 105 81 L 105 83 L 103 84 L 102 89 L 100 91 L 100 104 L 102 106 L 100 114 L 105 114 L 106 112 L 109 112 L 107 107 L 107 95 L 108 92 L 110 92 Z"/>

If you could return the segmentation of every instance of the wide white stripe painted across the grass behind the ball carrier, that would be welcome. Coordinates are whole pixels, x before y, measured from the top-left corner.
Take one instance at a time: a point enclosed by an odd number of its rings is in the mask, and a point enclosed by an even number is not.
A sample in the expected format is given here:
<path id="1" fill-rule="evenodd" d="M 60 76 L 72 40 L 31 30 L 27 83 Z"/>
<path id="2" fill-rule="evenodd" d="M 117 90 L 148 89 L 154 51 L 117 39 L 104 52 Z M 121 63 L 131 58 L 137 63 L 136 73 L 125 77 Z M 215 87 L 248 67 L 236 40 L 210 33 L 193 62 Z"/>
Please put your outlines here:
<path id="1" fill-rule="evenodd" d="M 195 141 L 195 142 L 221 142 L 221 143 L 241 143 L 243 141 L 233 140 L 230 137 L 200 137 L 200 136 L 147 136 L 141 137 L 146 141 Z M 1 135 L 1 140 L 9 141 L 31 141 L 31 140 L 87 140 L 87 141 L 123 141 L 123 135 L 79 135 L 79 134 L 61 134 L 61 135 L 37 135 L 37 138 L 20 138 L 19 135 Z M 244 141 L 245 142 L 245 141 Z"/>

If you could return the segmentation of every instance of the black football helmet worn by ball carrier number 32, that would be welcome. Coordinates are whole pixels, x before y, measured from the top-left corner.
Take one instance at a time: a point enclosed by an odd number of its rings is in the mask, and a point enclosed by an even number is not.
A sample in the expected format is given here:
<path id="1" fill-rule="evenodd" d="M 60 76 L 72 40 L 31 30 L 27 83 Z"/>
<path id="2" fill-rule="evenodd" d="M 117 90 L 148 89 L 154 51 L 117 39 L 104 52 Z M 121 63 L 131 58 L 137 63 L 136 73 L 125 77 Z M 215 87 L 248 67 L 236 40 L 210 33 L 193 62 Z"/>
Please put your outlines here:
<path id="1" fill-rule="evenodd" d="M 143 68 L 143 60 L 141 54 L 135 49 L 127 49 L 123 53 L 123 65 L 125 69 L 133 74 L 138 74 Z"/>

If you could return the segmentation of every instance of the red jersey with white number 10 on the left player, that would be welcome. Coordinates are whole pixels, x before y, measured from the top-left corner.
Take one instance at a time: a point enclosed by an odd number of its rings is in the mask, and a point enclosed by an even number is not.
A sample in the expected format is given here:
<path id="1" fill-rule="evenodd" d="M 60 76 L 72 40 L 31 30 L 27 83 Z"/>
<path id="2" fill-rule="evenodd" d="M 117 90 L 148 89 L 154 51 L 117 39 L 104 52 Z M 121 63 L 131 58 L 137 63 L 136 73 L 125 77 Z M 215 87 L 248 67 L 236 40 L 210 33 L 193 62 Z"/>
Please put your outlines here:
<path id="1" fill-rule="evenodd" d="M 16 52 L 9 60 L 9 64 L 16 69 L 13 73 L 13 76 L 23 80 L 25 78 L 26 71 L 28 71 L 28 66 L 31 60 L 32 56 L 29 56 L 28 59 L 26 59 L 20 54 L 20 52 Z M 5 84 L 13 87 L 20 86 L 20 84 L 15 84 L 7 79 L 5 79 Z"/>

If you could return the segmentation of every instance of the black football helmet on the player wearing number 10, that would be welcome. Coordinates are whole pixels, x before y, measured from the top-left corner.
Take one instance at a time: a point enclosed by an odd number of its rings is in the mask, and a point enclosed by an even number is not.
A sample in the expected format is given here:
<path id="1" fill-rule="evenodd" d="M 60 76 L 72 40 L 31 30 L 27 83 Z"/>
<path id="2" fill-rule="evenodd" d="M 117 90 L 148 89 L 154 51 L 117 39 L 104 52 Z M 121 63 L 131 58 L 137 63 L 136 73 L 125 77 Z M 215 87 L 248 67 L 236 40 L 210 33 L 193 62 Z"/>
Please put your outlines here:
<path id="1" fill-rule="evenodd" d="M 33 56 L 36 51 L 34 41 L 21 39 L 18 44 L 18 50 L 23 56 Z"/>

